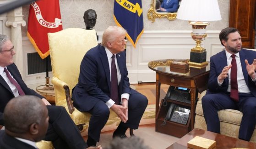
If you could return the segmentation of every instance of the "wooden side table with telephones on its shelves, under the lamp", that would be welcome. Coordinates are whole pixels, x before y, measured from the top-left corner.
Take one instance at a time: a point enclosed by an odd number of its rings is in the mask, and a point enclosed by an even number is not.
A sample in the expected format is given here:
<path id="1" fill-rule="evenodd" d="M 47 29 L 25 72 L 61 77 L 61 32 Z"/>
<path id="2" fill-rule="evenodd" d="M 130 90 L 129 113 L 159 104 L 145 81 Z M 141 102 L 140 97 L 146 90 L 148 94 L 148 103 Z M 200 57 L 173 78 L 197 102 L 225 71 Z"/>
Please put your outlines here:
<path id="1" fill-rule="evenodd" d="M 188 62 L 189 60 L 157 60 L 149 62 L 148 67 L 156 72 L 156 131 L 182 137 L 194 128 L 197 94 L 207 88 L 210 66 L 201 69 L 190 67 L 186 73 L 174 72 L 169 67 L 173 61 Z M 191 104 L 167 100 L 169 103 L 183 105 L 191 109 L 191 114 L 186 125 L 171 121 L 166 121 L 166 124 L 163 125 L 169 107 L 162 106 L 163 100 L 159 107 L 161 83 L 190 89 Z"/>

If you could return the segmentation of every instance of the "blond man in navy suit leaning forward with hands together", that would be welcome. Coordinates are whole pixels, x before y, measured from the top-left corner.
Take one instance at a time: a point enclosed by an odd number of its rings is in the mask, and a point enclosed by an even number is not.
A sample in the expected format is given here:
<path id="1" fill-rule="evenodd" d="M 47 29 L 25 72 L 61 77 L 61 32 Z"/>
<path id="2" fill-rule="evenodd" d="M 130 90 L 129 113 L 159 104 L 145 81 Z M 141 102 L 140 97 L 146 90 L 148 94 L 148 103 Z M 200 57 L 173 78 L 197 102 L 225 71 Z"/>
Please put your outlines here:
<path id="1" fill-rule="evenodd" d="M 72 92 L 74 106 L 92 114 L 88 146 L 95 146 L 109 118 L 109 108 L 121 122 L 114 137 L 126 138 L 127 128 L 137 129 L 147 107 L 147 98 L 130 88 L 126 68 L 125 29 L 109 26 L 102 43 L 87 51 L 82 59 L 78 83 Z"/>

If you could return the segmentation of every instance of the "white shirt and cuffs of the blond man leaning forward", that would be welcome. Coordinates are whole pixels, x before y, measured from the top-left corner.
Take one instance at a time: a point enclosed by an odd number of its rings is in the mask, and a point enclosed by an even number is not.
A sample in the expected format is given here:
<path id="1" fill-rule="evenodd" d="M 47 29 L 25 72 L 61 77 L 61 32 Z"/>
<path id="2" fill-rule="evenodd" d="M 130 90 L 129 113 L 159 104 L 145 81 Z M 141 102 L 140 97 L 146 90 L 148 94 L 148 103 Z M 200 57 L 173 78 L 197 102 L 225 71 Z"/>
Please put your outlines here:
<path id="1" fill-rule="evenodd" d="M 110 72 L 110 79 L 111 79 L 111 61 L 112 61 L 113 54 L 106 47 L 105 47 L 105 51 L 107 53 L 107 57 L 108 57 L 108 60 L 109 60 L 109 72 Z M 120 57 L 120 55 L 119 54 L 115 54 L 115 57 Z M 117 71 L 117 82 L 119 84 L 120 80 L 121 80 L 121 73 L 120 73 L 120 70 L 119 70 L 117 59 L 115 58 L 114 61 L 115 61 L 115 66 L 116 66 L 116 71 Z M 123 93 L 121 95 L 121 99 L 122 98 L 126 98 L 127 100 L 129 100 L 129 97 L 130 97 L 129 93 Z M 121 100 L 121 103 L 122 103 L 122 100 Z M 114 105 L 114 101 L 112 99 L 109 99 L 109 101 L 107 101 L 106 104 L 110 108 L 110 107 L 112 107 Z"/>

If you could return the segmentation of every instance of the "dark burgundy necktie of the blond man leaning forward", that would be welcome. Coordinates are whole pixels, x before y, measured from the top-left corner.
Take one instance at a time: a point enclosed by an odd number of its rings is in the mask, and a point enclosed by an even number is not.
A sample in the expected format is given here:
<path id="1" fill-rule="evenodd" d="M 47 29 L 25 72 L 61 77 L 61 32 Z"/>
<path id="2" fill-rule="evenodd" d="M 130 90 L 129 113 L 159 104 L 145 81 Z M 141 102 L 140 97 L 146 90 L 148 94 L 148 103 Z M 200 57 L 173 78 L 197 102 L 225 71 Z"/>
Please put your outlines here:
<path id="1" fill-rule="evenodd" d="M 110 90 L 111 90 L 110 98 L 115 102 L 115 104 L 119 104 L 117 71 L 116 71 L 116 66 L 115 66 L 115 61 L 114 61 L 114 54 L 112 56 L 112 61 L 111 61 L 111 88 L 110 88 Z"/>

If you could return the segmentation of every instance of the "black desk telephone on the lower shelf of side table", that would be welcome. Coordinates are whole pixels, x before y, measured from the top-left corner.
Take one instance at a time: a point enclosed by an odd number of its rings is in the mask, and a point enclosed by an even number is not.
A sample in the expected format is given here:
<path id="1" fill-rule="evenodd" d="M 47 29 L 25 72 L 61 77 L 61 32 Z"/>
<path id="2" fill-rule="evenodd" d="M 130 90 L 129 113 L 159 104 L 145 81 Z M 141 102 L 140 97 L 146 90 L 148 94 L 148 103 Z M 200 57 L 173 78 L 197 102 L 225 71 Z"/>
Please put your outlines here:
<path id="1" fill-rule="evenodd" d="M 171 103 L 165 119 L 176 123 L 187 124 L 190 109 L 182 108 L 179 105 Z"/>

